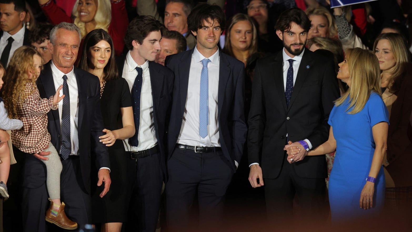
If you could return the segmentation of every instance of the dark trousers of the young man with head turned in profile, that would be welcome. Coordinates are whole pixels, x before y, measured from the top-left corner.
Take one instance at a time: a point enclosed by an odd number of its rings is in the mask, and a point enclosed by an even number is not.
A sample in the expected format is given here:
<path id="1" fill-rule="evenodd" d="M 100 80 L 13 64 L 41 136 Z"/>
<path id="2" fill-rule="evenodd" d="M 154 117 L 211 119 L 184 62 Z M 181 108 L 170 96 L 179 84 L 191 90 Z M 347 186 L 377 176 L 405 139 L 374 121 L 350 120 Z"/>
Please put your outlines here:
<path id="1" fill-rule="evenodd" d="M 136 159 L 126 232 L 155 232 L 163 185 L 159 152 Z"/>

